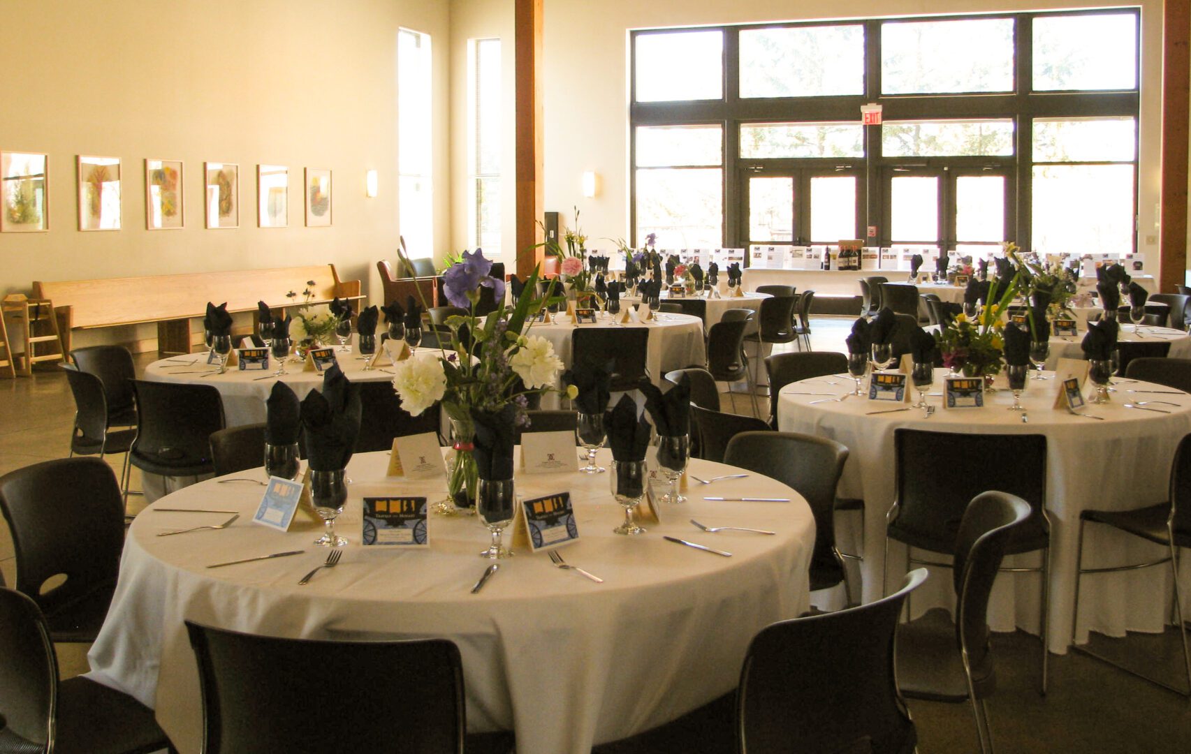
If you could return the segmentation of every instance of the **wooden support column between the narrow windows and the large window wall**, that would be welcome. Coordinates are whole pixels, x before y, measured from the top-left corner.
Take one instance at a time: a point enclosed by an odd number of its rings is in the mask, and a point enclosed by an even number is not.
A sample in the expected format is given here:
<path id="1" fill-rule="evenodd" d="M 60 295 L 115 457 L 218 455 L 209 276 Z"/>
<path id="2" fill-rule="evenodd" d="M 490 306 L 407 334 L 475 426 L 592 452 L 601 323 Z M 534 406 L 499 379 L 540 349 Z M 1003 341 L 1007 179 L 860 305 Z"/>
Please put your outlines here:
<path id="1" fill-rule="evenodd" d="M 542 175 L 542 1 L 515 0 L 516 107 L 517 107 L 517 274 L 525 278 L 543 256 L 542 231 L 537 225 L 544 212 Z M 1186 0 L 1180 0 L 1185 2 Z"/>

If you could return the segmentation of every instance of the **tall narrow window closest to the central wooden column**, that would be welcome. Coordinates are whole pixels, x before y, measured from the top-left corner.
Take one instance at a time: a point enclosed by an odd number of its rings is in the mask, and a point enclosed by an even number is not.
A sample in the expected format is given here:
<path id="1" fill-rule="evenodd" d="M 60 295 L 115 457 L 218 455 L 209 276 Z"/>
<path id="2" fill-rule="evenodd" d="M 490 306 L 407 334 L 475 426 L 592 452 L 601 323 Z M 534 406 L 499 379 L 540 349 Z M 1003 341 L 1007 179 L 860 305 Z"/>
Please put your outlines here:
<path id="1" fill-rule="evenodd" d="M 500 254 L 500 39 L 472 39 L 468 55 L 470 245 Z"/>

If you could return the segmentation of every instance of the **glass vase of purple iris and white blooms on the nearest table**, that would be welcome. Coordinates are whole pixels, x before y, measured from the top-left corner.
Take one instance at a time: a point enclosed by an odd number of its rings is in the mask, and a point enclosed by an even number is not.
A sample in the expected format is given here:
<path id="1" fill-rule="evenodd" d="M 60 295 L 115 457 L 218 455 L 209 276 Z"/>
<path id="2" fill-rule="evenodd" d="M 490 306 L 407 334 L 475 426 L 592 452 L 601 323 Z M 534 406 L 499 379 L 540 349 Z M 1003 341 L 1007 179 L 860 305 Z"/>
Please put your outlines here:
<path id="1" fill-rule="evenodd" d="M 516 424 L 526 423 L 529 395 L 555 390 L 563 367 L 549 341 L 530 335 L 532 316 L 550 293 L 544 298 L 530 294 L 538 289 L 538 269 L 525 281 L 525 293 L 513 306 L 478 316 L 481 287 L 492 288 L 495 299 L 504 300 L 505 283 L 492 278 L 491 270 L 492 262 L 480 249 L 464 251 L 461 261 L 445 270 L 443 291 L 453 306 L 467 313 L 447 319 L 437 354 L 418 355 L 393 367 L 393 387 L 406 411 L 418 415 L 438 401 L 447 411 L 455 450 L 448 490 L 457 507 L 474 504 L 479 485 L 472 455 L 474 417 L 492 416 L 512 405 Z"/>

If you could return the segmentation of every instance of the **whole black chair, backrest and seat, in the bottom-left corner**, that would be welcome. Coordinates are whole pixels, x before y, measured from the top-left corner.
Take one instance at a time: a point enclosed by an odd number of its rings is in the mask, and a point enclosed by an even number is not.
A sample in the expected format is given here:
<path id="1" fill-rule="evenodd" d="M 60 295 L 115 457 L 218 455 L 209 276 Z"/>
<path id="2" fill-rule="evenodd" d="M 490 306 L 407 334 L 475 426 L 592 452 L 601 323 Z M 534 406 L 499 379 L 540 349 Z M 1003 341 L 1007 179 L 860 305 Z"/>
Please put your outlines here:
<path id="1" fill-rule="evenodd" d="M 54 638 L 37 603 L 0 588 L 0 750 L 148 754 L 174 747 L 152 710 L 77 677 L 58 680 Z"/>

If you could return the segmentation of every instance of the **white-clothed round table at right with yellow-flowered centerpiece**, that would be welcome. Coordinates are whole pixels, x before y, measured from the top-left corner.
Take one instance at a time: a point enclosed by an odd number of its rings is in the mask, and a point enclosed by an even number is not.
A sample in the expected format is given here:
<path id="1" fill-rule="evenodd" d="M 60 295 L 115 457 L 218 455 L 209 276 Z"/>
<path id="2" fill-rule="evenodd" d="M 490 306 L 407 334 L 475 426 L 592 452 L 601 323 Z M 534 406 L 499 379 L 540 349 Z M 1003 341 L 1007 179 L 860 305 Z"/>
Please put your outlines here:
<path id="1" fill-rule="evenodd" d="M 936 369 L 931 387 L 936 397 L 927 399 L 936 407 L 942 400 L 937 394 L 944 374 L 946 370 Z M 1056 390 L 1053 379 L 1030 380 L 1022 395 L 1022 405 L 1029 410 L 1029 423 L 1023 424 L 1019 412 L 1006 411 L 1012 404 L 1009 391 L 986 393 L 987 403 L 983 409 L 939 409 L 929 418 L 917 409 L 869 416 L 867 411 L 886 409 L 890 404 L 877 404 L 862 397 L 811 405 L 811 401 L 827 397 L 797 394 L 842 395 L 853 386 L 852 379 L 834 376 L 787 385 L 779 393 L 778 426 L 782 431 L 829 437 L 848 447 L 850 453 L 838 493 L 865 500 L 862 574 L 866 600 L 880 596 L 885 577 L 881 565 L 885 515 L 893 504 L 896 490 L 894 430 L 1040 434 L 1047 437 L 1046 509 L 1052 532 L 1050 627 L 1047 641 L 1050 650 L 1065 653 L 1073 640 L 1085 642 L 1089 630 L 1111 636 L 1123 636 L 1125 630 L 1162 630 L 1173 590 L 1170 569 L 1165 567 L 1085 575 L 1080 590 L 1079 624 L 1072 637 L 1079 513 L 1084 509 L 1129 510 L 1167 499 L 1174 450 L 1179 441 L 1191 432 L 1191 395 L 1133 394 L 1127 391 L 1172 388 L 1146 382 L 1122 384 L 1111 404 L 1086 407 L 1087 413 L 1103 418 L 1095 420 L 1053 409 Z M 1122 405 L 1134 399 L 1161 399 L 1178 405 L 1153 406 L 1170 413 L 1131 410 Z M 999 462 L 999 459 L 989 459 L 989 463 Z M 1145 562 L 1165 554 L 1165 548 L 1139 537 L 1096 524 L 1086 526 L 1085 568 Z M 1006 559 L 1006 566 L 1036 567 L 1040 563 L 1041 553 Z M 888 567 L 893 574 L 904 573 L 905 546 L 891 543 Z M 1191 579 L 1191 561 L 1183 563 L 1180 578 L 1184 575 Z M 891 575 L 888 581 L 893 584 L 896 577 Z M 998 631 L 1021 628 L 1039 634 L 1039 588 L 1036 573 L 1000 574 L 989 605 L 990 627 Z M 952 607 L 954 599 L 950 592 L 950 572 L 935 574 L 913 596 L 915 613 L 931 606 Z"/>

